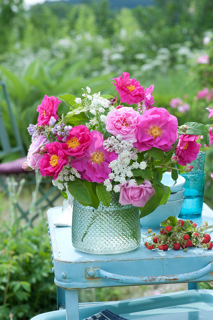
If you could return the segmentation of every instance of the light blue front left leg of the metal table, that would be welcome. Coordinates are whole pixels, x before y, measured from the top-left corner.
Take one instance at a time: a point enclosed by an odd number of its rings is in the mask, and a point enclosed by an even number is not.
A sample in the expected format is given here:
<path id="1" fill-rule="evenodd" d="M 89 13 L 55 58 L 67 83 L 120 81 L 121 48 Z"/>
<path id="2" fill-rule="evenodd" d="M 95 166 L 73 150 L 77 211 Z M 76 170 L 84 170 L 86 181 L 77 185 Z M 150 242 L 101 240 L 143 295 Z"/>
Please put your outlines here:
<path id="1" fill-rule="evenodd" d="M 66 320 L 79 320 L 78 290 L 65 290 Z"/>

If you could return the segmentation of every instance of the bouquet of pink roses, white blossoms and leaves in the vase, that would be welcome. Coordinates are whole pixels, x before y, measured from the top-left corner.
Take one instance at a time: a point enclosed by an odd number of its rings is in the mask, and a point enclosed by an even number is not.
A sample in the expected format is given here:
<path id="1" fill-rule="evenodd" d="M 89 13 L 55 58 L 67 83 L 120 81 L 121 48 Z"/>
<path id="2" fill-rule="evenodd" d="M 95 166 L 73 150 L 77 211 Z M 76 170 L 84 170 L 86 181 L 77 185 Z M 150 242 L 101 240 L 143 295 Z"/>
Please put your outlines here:
<path id="1" fill-rule="evenodd" d="M 176 181 L 178 172 L 192 169 L 198 135 L 208 130 L 198 123 L 179 127 L 175 116 L 153 106 L 154 85 L 144 89 L 127 72 L 113 80 L 120 103 L 116 96 L 91 95 L 89 87 L 81 89 L 81 98 L 45 95 L 37 124 L 28 128 L 32 144 L 23 168 L 40 169 L 65 198 L 69 191 L 95 209 L 100 202 L 109 206 L 110 193 L 118 192 L 119 203 L 137 206 L 143 217 L 167 202 L 164 172 L 171 170 Z M 60 118 L 61 101 L 69 112 Z"/>

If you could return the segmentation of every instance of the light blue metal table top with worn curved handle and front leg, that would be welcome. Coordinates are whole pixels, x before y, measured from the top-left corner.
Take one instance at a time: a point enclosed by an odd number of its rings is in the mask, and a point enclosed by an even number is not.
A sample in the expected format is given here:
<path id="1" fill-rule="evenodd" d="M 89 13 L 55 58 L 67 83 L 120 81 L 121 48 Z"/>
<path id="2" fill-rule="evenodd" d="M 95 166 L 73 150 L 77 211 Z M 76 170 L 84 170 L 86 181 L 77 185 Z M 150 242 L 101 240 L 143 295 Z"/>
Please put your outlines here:
<path id="1" fill-rule="evenodd" d="M 188 282 L 189 289 L 197 289 L 198 281 L 213 280 L 213 250 L 147 250 L 142 240 L 136 250 L 127 253 L 83 253 L 73 248 L 70 227 L 54 226 L 60 214 L 61 207 L 48 210 L 48 233 L 54 282 L 65 290 L 67 320 L 79 319 L 78 289 L 178 282 Z M 204 221 L 213 224 L 212 210 L 204 204 L 202 217 L 193 221 L 198 226 Z"/>

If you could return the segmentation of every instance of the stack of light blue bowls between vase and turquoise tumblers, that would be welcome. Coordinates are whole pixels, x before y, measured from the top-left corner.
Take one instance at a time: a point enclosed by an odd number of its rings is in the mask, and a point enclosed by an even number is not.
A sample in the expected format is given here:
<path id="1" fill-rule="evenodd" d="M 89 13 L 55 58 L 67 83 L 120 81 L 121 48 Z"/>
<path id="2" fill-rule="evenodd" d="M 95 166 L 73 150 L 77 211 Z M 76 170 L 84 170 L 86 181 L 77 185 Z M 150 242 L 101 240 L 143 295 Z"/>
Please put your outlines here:
<path id="1" fill-rule="evenodd" d="M 171 189 L 171 194 L 167 203 L 159 205 L 152 213 L 140 219 L 143 228 L 160 229 L 161 221 L 166 220 L 169 216 L 177 218 L 183 206 L 185 178 L 179 175 L 174 185 L 175 181 L 171 177 L 171 172 L 165 172 L 161 182 Z"/>

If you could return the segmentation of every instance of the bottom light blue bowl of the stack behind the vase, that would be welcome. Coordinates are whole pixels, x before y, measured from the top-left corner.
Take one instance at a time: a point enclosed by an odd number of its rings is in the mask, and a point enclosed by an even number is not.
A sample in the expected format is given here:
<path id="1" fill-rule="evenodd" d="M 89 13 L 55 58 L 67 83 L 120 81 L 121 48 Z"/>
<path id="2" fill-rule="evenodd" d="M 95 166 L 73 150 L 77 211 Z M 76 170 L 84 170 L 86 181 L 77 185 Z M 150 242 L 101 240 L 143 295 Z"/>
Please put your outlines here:
<path id="1" fill-rule="evenodd" d="M 176 201 L 168 201 L 159 205 L 155 211 L 140 219 L 143 228 L 160 229 L 161 221 L 166 220 L 169 216 L 178 217 L 184 203 L 184 197 Z"/>

